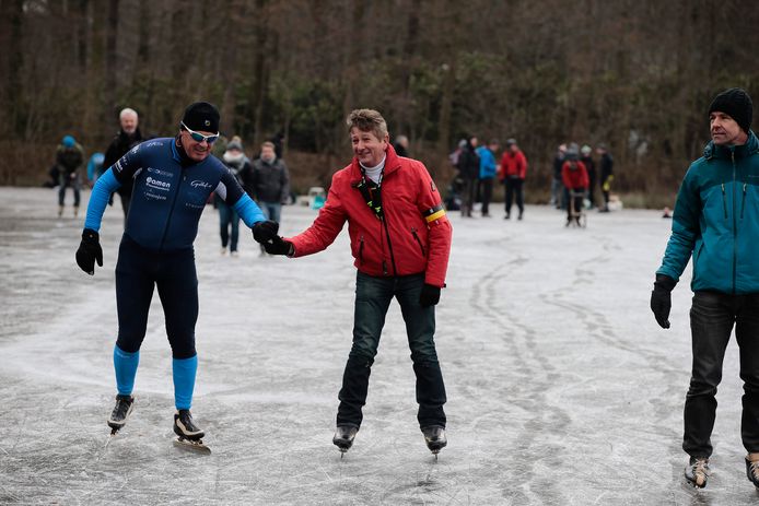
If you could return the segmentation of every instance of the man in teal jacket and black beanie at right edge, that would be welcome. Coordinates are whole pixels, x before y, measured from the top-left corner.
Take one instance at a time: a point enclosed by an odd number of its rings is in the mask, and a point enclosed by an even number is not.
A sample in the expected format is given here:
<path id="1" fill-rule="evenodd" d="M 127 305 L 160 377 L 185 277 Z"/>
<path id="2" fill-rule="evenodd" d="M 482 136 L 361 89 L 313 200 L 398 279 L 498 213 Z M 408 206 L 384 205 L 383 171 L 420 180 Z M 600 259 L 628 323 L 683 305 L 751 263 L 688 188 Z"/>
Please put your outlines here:
<path id="1" fill-rule="evenodd" d="M 693 363 L 685 404 L 686 479 L 707 485 L 716 387 L 735 327 L 744 380 L 740 436 L 746 474 L 759 487 L 759 141 L 751 98 L 740 89 L 709 107 L 712 141 L 677 196 L 672 236 L 651 294 L 656 322 L 669 328 L 670 292 L 693 258 L 690 310 Z"/>

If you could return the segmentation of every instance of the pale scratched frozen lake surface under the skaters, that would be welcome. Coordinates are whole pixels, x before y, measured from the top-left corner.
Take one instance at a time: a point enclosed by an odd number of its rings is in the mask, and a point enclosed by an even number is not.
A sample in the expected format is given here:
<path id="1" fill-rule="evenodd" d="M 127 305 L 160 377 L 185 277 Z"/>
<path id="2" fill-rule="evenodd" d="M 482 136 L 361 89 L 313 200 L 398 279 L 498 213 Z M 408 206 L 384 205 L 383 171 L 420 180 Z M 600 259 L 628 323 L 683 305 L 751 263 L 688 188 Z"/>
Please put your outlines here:
<path id="1" fill-rule="evenodd" d="M 83 192 L 86 202 L 89 192 Z M 70 201 L 71 196 L 68 196 Z M 199 370 L 192 413 L 210 456 L 172 445 L 171 351 L 153 297 L 135 412 L 107 448 L 116 339 L 117 202 L 105 264 L 74 262 L 83 216 L 56 192 L 0 188 L 0 504 L 755 504 L 740 444 L 731 342 L 712 440 L 713 475 L 682 484 L 690 376 L 690 267 L 673 328 L 649 309 L 670 222 L 655 211 L 591 213 L 586 230 L 528 207 L 525 220 L 452 213 L 437 353 L 448 447 L 437 462 L 417 426 L 400 311 L 390 307 L 364 423 L 331 444 L 351 342 L 355 270 L 343 231 L 328 250 L 220 256 L 218 214 L 200 223 Z M 84 210 L 84 208 L 82 208 Z M 83 214 L 83 213 L 82 213 Z M 282 232 L 316 215 L 283 209 Z"/>

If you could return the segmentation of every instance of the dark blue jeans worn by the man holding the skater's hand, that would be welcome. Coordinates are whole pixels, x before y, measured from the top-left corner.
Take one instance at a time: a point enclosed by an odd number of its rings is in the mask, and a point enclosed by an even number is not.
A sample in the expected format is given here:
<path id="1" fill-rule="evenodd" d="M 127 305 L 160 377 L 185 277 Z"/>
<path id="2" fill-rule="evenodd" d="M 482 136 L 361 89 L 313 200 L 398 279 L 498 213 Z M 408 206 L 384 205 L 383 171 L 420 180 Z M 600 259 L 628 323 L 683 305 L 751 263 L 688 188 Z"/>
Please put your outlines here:
<path id="1" fill-rule="evenodd" d="M 395 297 L 400 304 L 406 322 L 413 372 L 417 376 L 417 420 L 420 427 L 445 427 L 445 386 L 433 340 L 435 308 L 422 307 L 419 304 L 419 294 L 423 285 L 424 274 L 398 278 L 374 278 L 362 272 L 357 274 L 353 345 L 348 355 L 342 388 L 338 396 L 338 425 L 361 425 L 361 408 L 366 403 L 369 375 L 377 354 L 385 315 Z"/>

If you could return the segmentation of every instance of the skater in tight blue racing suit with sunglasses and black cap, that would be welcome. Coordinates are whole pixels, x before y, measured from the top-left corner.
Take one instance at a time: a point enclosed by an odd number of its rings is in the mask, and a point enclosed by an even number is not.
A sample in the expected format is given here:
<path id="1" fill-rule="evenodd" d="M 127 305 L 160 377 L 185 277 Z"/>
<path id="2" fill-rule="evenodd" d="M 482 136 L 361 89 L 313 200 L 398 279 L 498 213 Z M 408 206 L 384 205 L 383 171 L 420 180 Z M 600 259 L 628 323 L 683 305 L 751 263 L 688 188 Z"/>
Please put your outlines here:
<path id="1" fill-rule="evenodd" d="M 207 102 L 190 104 L 176 137 L 132 148 L 108 167 L 92 190 L 77 251 L 77 263 L 91 275 L 95 261 L 103 266 L 98 231 L 108 199 L 122 185 L 133 187 L 116 263 L 118 338 L 114 368 L 118 395 L 108 420 L 114 432 L 124 426 L 135 405 L 132 388 L 140 345 L 153 287 L 157 286 L 173 355 L 174 432 L 196 442 L 203 436 L 189 411 L 198 367 L 198 278 L 192 243 L 209 196 L 215 192 L 234 208 L 257 239 L 277 234 L 278 224 L 266 221 L 224 164 L 209 156 L 218 138 L 217 108 Z"/>

